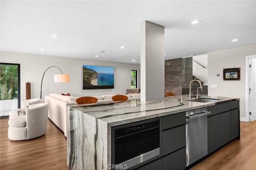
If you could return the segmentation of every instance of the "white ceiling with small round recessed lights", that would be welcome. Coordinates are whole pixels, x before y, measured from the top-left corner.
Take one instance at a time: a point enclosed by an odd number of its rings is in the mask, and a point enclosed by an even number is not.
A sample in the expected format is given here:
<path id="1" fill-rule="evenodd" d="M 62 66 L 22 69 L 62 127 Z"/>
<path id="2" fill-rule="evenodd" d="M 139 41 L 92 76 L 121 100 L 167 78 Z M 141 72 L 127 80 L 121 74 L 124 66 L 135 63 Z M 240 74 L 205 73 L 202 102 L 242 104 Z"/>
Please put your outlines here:
<path id="1" fill-rule="evenodd" d="M 1 51 L 140 63 L 145 20 L 165 27 L 166 60 L 256 44 L 255 0 L 2 0 L 0 8 Z"/>

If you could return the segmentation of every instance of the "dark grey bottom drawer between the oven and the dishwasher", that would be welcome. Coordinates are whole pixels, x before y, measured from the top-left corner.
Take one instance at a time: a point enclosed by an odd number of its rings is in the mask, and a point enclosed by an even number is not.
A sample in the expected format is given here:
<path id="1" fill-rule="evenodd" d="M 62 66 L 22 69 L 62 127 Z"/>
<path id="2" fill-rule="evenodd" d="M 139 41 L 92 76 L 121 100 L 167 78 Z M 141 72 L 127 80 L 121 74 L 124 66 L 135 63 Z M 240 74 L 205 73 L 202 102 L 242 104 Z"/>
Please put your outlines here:
<path id="1" fill-rule="evenodd" d="M 162 170 L 184 170 L 186 168 L 186 148 L 162 158 L 162 162 Z"/>

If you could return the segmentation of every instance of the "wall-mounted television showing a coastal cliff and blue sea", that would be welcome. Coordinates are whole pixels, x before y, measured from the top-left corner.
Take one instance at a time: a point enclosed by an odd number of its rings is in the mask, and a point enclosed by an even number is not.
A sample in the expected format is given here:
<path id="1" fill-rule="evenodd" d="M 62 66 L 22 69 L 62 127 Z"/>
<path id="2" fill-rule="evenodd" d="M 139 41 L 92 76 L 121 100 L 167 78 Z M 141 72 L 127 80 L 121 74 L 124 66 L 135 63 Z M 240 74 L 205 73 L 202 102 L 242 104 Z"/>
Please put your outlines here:
<path id="1" fill-rule="evenodd" d="M 83 65 L 83 90 L 114 88 L 114 67 Z"/>

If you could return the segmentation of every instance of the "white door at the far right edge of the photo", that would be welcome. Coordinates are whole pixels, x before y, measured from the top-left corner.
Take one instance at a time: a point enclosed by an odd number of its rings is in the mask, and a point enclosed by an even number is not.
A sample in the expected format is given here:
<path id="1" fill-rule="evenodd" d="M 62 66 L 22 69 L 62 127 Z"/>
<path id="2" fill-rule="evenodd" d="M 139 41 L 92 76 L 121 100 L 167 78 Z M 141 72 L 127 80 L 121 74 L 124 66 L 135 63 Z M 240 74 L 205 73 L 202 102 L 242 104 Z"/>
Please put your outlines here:
<path id="1" fill-rule="evenodd" d="M 250 68 L 250 106 L 249 111 L 251 112 L 250 121 L 256 120 L 256 58 L 251 59 Z"/>

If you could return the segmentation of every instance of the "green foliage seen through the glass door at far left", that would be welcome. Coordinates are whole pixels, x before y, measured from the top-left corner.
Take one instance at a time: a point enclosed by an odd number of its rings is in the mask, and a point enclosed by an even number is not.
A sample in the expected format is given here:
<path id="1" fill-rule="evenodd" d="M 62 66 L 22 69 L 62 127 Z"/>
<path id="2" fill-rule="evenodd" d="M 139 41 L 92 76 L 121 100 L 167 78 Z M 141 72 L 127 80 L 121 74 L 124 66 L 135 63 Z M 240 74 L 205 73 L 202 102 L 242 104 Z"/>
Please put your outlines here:
<path id="1" fill-rule="evenodd" d="M 0 100 L 18 98 L 18 66 L 0 64 Z"/>

